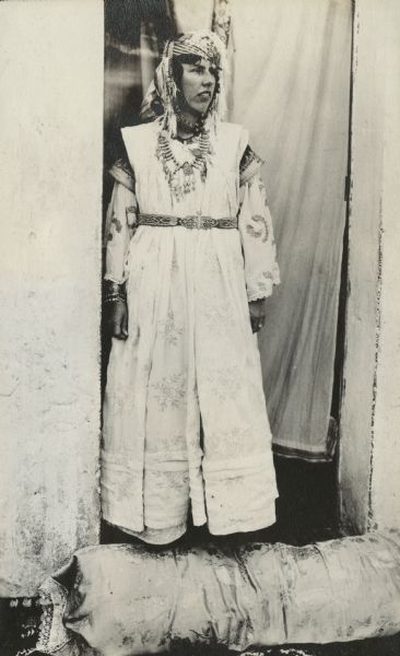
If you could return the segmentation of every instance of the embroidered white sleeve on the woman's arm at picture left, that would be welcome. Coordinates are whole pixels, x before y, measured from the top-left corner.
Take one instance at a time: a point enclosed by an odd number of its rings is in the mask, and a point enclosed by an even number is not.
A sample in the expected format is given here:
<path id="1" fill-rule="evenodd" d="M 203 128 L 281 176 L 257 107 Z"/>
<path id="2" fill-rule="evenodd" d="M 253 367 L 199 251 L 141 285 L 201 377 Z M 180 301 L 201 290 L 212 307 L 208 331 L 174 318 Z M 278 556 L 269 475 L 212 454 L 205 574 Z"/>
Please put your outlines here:
<path id="1" fill-rule="evenodd" d="M 122 283 L 127 280 L 127 255 L 137 220 L 137 200 L 133 191 L 116 181 L 106 218 L 105 280 Z"/>

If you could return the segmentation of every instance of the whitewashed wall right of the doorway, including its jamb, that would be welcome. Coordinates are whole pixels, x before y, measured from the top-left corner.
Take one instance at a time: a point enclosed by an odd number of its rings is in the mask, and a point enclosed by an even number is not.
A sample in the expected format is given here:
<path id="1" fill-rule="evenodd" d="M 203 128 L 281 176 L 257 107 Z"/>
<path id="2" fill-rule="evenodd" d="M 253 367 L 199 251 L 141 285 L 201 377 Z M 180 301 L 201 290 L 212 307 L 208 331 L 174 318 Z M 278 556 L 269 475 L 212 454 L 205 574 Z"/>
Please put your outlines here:
<path id="1" fill-rule="evenodd" d="M 339 468 L 350 532 L 400 527 L 399 10 L 397 0 L 355 3 Z"/>

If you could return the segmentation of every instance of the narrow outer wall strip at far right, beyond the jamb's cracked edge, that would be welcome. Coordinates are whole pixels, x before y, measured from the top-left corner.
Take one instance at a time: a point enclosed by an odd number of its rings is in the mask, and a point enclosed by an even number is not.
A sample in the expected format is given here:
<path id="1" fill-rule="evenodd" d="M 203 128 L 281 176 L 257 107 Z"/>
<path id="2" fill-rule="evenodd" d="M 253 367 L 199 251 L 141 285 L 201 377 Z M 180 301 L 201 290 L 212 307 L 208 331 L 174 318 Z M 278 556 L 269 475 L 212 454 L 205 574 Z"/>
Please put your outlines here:
<path id="1" fill-rule="evenodd" d="M 385 31 L 380 339 L 370 480 L 373 527 L 400 528 L 400 4 Z"/>

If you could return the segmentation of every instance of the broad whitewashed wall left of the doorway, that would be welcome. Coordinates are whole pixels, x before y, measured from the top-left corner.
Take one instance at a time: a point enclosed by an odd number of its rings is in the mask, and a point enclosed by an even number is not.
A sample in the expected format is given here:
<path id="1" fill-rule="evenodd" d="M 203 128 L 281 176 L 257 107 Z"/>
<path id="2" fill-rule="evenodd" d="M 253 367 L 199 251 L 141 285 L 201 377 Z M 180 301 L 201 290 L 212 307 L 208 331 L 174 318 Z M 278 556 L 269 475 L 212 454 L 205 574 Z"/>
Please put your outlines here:
<path id="1" fill-rule="evenodd" d="M 0 3 L 0 595 L 98 532 L 103 3 Z"/>

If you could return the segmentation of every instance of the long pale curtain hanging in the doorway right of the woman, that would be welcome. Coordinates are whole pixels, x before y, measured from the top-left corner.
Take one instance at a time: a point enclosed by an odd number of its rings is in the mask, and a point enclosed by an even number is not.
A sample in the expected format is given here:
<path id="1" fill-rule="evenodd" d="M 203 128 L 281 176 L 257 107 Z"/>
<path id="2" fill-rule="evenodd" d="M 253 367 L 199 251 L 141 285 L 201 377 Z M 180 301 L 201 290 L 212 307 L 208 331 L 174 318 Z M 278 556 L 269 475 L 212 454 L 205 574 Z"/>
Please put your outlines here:
<path id="1" fill-rule="evenodd" d="M 266 160 L 282 285 L 259 337 L 277 454 L 326 460 L 345 218 L 346 0 L 232 0 L 231 119 Z M 260 26 L 262 25 L 262 28 Z"/>

